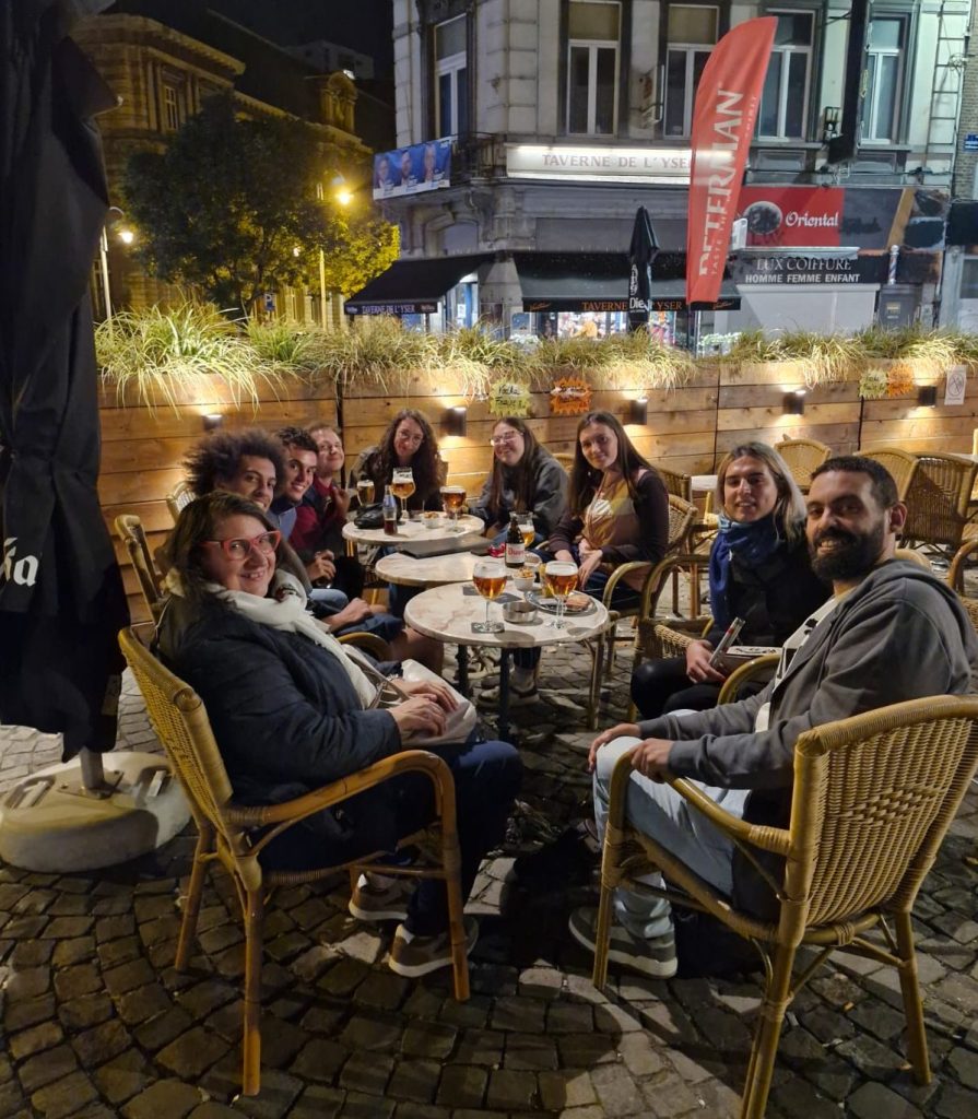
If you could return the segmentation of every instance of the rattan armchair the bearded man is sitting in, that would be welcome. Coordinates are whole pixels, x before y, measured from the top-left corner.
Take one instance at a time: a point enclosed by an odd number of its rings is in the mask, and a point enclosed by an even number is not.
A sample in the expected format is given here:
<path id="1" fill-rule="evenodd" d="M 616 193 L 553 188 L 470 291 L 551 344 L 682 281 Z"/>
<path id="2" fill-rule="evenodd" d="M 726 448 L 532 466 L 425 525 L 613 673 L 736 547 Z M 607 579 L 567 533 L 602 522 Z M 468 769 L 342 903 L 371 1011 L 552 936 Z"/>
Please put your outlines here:
<path id="1" fill-rule="evenodd" d="M 764 999 L 742 1119 L 762 1119 L 786 1010 L 818 966 L 839 948 L 897 968 L 908 1056 L 914 1078 L 928 1083 L 911 911 L 978 764 L 976 718 L 978 698 L 933 696 L 807 731 L 794 746 L 788 829 L 736 819 L 689 781 L 667 779 L 750 856 L 769 852 L 786 859 L 782 878 L 765 875 L 780 902 L 777 921 L 735 909 L 668 848 L 628 826 L 626 793 L 632 770 L 624 754 L 611 781 L 594 986 L 601 988 L 606 980 L 612 892 L 656 868 L 669 885 L 661 891 L 643 885 L 643 890 L 711 913 L 751 940 L 763 958 Z M 865 935 L 876 927 L 883 932 L 882 944 Z M 816 956 L 794 976 L 802 944 L 811 946 Z"/>

